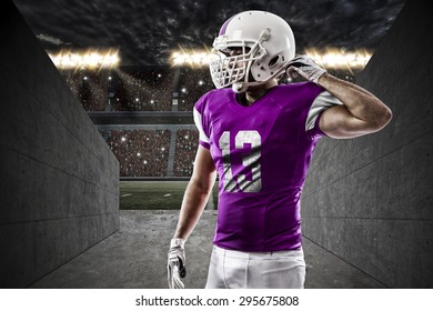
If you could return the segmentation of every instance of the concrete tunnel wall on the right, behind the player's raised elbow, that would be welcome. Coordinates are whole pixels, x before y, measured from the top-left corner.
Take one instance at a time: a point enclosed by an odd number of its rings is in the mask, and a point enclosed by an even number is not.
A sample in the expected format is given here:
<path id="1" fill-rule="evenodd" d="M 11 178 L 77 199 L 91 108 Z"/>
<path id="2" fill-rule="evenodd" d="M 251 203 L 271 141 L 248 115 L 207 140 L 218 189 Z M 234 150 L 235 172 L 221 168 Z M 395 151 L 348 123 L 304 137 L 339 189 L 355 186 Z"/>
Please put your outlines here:
<path id="1" fill-rule="evenodd" d="M 409 1 L 358 77 L 392 122 L 323 139 L 302 198 L 304 235 L 391 288 L 433 287 L 432 13 Z"/>

